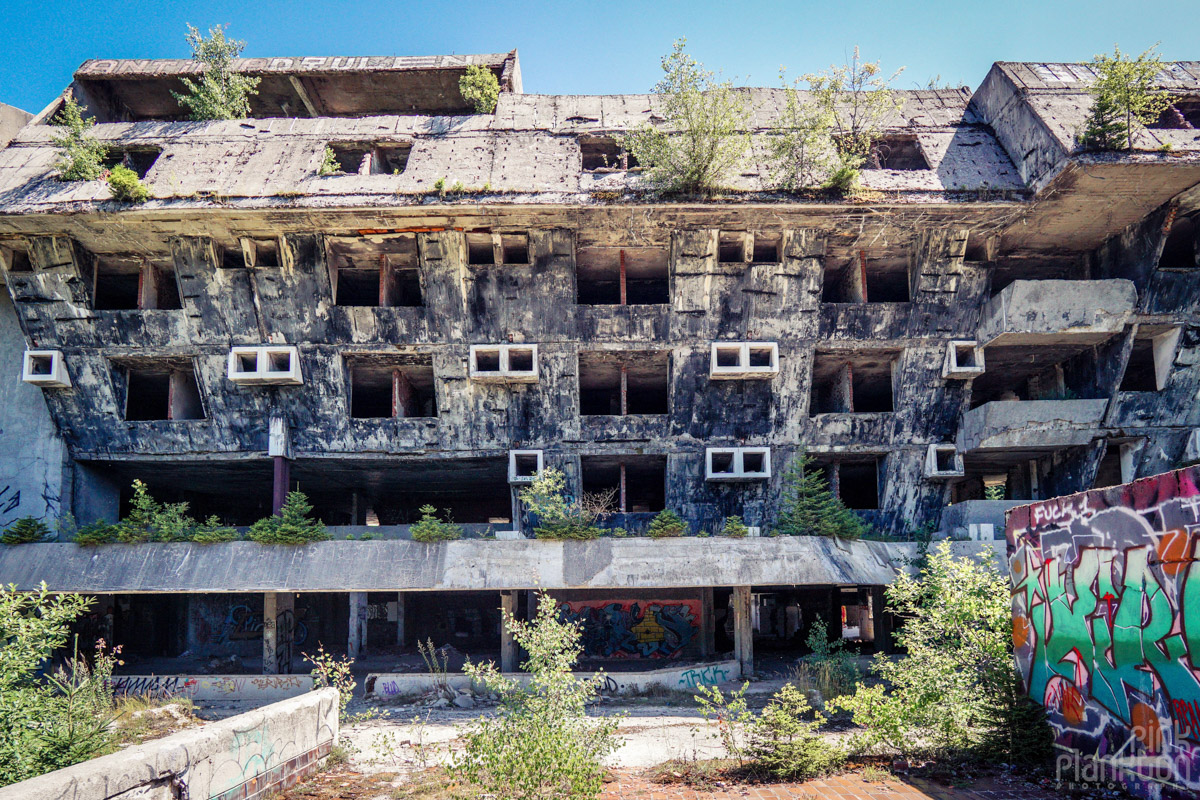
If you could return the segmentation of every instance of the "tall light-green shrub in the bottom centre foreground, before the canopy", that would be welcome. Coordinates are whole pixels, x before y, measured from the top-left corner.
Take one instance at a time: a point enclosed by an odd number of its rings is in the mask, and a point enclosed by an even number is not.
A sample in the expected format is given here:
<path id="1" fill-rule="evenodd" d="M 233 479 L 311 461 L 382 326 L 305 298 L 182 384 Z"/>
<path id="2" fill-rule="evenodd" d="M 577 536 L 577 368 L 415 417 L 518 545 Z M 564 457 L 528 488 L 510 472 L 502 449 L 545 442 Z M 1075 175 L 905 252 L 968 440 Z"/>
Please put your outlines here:
<path id="1" fill-rule="evenodd" d="M 463 733 L 451 771 L 510 800 L 582 800 L 600 794 L 602 759 L 616 750 L 618 717 L 589 717 L 604 675 L 577 678 L 571 669 L 582 651 L 581 628 L 562 621 L 554 601 L 539 596 L 538 614 L 526 622 L 510 614 L 504 625 L 528 652 L 521 664 L 528 685 L 504 676 L 496 664 L 468 663 L 473 680 L 500 696 L 494 717 L 480 717 Z"/>

